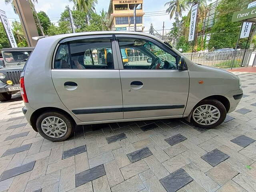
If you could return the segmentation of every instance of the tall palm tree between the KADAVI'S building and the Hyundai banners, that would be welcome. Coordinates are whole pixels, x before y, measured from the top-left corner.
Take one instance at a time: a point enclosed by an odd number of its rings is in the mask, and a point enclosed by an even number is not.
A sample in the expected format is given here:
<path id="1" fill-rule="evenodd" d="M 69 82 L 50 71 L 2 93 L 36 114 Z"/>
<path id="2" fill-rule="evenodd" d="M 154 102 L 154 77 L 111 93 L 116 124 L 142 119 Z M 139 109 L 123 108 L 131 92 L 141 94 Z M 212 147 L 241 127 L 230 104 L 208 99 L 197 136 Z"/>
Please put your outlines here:
<path id="1" fill-rule="evenodd" d="M 186 5 L 184 4 L 184 0 L 172 0 L 164 4 L 164 6 L 168 6 L 166 13 L 170 14 L 170 19 L 172 19 L 175 13 L 176 26 L 179 30 L 179 16 L 182 17 L 182 11 L 186 10 Z M 178 32 L 178 41 L 180 39 L 180 34 Z"/>

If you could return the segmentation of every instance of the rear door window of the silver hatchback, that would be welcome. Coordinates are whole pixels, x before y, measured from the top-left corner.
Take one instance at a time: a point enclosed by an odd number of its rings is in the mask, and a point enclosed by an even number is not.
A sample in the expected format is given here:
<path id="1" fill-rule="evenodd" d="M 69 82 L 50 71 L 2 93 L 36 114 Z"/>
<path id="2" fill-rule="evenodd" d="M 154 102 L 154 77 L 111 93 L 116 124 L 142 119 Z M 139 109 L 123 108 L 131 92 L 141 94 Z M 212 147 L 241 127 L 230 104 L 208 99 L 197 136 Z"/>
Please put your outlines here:
<path id="1" fill-rule="evenodd" d="M 68 54 L 68 46 L 70 46 L 70 54 Z M 71 64 L 69 56 L 71 56 Z M 60 45 L 54 68 L 114 69 L 111 40 L 84 39 Z"/>

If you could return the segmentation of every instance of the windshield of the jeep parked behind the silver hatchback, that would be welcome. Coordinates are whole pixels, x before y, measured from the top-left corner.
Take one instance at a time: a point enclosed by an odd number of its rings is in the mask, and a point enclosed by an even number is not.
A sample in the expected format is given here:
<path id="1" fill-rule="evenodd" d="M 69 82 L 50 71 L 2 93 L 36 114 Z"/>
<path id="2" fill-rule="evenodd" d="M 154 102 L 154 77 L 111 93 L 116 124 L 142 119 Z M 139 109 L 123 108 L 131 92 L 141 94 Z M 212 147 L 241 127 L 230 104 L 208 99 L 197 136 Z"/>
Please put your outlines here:
<path id="1" fill-rule="evenodd" d="M 4 61 L 5 62 L 24 62 L 28 59 L 32 50 L 29 51 L 4 51 Z"/>

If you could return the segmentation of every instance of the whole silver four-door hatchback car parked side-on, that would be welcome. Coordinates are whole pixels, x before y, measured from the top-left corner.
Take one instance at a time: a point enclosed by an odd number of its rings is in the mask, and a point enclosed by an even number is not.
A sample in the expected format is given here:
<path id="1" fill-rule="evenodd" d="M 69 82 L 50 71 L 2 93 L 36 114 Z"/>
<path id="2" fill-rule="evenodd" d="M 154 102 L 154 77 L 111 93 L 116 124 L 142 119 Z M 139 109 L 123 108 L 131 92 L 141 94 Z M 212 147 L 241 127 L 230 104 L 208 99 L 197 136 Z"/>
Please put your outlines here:
<path id="1" fill-rule="evenodd" d="M 140 32 L 86 32 L 42 38 L 21 79 L 32 128 L 63 141 L 74 126 L 186 118 L 212 128 L 235 110 L 239 78 L 193 63 Z"/>

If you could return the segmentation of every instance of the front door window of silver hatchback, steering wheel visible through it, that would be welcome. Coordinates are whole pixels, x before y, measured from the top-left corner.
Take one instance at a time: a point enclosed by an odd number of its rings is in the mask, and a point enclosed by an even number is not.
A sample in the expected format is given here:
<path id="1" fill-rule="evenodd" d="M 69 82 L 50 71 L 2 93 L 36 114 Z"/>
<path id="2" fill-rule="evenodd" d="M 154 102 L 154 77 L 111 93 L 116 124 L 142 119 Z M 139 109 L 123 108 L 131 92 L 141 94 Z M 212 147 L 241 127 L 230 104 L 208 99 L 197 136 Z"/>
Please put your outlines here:
<path id="1" fill-rule="evenodd" d="M 140 39 L 119 39 L 124 69 L 176 70 L 176 57 L 156 44 Z"/>

